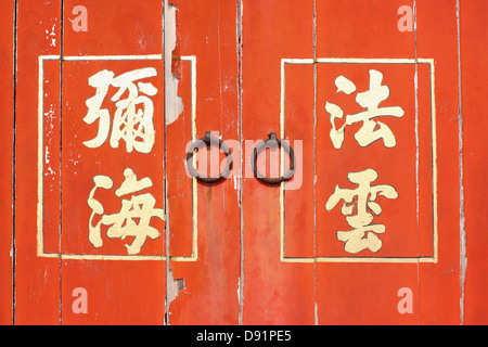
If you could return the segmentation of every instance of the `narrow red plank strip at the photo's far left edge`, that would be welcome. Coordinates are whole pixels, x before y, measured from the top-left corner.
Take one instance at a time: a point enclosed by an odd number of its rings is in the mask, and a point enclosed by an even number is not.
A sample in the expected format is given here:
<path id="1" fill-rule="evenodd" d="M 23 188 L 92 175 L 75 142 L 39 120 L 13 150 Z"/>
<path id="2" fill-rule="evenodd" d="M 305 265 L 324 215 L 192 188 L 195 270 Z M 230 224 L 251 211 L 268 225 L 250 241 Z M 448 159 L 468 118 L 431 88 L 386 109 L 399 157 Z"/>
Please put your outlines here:
<path id="1" fill-rule="evenodd" d="M 15 1 L 3 4 L 0 14 L 0 80 L 1 101 L 3 106 L 0 134 L 0 182 L 2 196 L 0 197 L 0 214 L 2 230 L 0 232 L 0 324 L 13 323 L 13 291 L 12 291 L 12 260 L 13 260 L 13 119 L 14 119 L 14 28 Z"/>

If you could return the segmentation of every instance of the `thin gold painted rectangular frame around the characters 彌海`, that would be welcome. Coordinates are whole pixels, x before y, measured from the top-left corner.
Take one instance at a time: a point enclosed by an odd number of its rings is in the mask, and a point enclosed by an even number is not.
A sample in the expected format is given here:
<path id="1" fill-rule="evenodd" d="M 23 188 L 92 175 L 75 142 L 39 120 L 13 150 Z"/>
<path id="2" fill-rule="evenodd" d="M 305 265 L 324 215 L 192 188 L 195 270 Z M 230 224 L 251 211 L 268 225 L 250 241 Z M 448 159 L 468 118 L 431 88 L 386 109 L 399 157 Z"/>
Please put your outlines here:
<path id="1" fill-rule="evenodd" d="M 43 244 L 43 157 L 44 157 L 44 119 L 43 119 L 43 67 L 44 61 L 61 61 L 61 55 L 39 55 L 38 68 L 38 187 L 37 187 L 37 256 L 44 258 L 61 258 L 68 260 L 167 260 L 165 255 L 80 255 L 80 254 L 61 254 L 46 253 Z M 63 61 L 157 61 L 163 60 L 162 54 L 149 55 L 85 55 L 85 56 L 63 56 Z M 196 56 L 179 56 L 181 61 L 191 63 L 191 133 L 192 141 L 196 138 Z M 166 192 L 165 192 L 166 194 Z M 165 206 L 166 220 L 168 220 L 168 209 Z M 196 261 L 198 259 L 197 246 L 197 190 L 196 178 L 192 179 L 192 255 L 169 256 L 171 261 Z"/>

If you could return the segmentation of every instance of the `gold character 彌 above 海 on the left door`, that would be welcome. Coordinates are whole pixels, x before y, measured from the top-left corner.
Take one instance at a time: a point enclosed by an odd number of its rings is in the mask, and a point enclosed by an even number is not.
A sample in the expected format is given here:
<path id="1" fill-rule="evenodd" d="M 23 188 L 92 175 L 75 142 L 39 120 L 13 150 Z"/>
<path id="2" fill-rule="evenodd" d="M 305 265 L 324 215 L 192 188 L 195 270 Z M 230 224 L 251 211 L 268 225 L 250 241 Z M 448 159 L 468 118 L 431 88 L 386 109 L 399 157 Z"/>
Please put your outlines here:
<path id="1" fill-rule="evenodd" d="M 118 142 L 126 142 L 128 153 L 133 149 L 141 153 L 150 153 L 155 140 L 153 125 L 154 105 L 151 99 L 139 95 L 139 91 L 154 97 L 157 89 L 149 82 L 138 82 L 136 80 L 154 77 L 157 72 L 153 67 L 145 67 L 125 73 L 114 78 L 115 74 L 110 70 L 101 70 L 88 79 L 91 87 L 97 88 L 95 95 L 88 99 L 86 104 L 88 113 L 84 118 L 87 124 L 92 124 L 99 119 L 99 131 L 92 140 L 85 141 L 84 144 L 90 149 L 101 146 L 108 138 L 111 130 L 111 116 L 108 110 L 101 108 L 102 103 L 108 92 L 108 87 L 119 88 L 111 98 L 117 107 L 112 125 L 111 146 L 118 147 Z M 120 97 L 128 91 L 125 99 Z"/>

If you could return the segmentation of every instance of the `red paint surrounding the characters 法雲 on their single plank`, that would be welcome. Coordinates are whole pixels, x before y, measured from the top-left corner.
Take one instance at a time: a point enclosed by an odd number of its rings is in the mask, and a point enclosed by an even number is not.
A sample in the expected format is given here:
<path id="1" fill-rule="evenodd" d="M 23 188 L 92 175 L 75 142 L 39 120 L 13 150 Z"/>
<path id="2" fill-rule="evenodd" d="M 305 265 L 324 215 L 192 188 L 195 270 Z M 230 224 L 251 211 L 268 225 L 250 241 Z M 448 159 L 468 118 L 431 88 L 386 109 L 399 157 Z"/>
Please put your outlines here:
<path id="1" fill-rule="evenodd" d="M 386 14 L 398 9 L 403 2 L 372 1 L 371 3 L 355 4 L 356 10 L 350 11 L 354 1 L 348 1 L 343 7 L 337 2 L 319 2 L 317 33 L 318 33 L 318 56 L 338 57 L 406 57 L 414 59 L 413 33 L 399 33 L 391 30 L 395 17 L 388 21 L 378 21 L 381 17 L 388 17 Z M 411 3 L 409 3 L 411 5 Z M 347 16 L 348 23 L 344 29 L 342 17 Z M 372 17 L 372 18 L 371 18 Z M 357 42 L 347 44 L 347 42 Z M 337 65 L 336 65 L 337 66 Z M 390 127 L 397 139 L 397 145 L 386 149 L 380 140 L 367 147 L 359 147 L 351 138 L 351 131 L 346 130 L 346 139 L 343 147 L 329 150 L 331 147 L 328 133 L 328 114 L 325 114 L 324 100 L 343 105 L 350 99 L 346 95 L 333 94 L 333 79 L 328 75 L 329 66 L 318 67 L 318 89 L 320 107 L 318 106 L 318 132 L 322 136 L 317 143 L 317 166 L 318 171 L 335 171 L 331 180 L 318 180 L 318 240 L 323 240 L 328 233 L 335 236 L 337 230 L 349 230 L 345 223 L 344 216 L 338 211 L 339 206 L 325 215 L 324 205 L 329 195 L 338 184 L 342 188 L 352 188 L 346 180 L 347 172 L 359 171 L 365 168 L 374 168 L 378 174 L 378 179 L 374 184 L 391 184 L 398 192 L 397 200 L 377 200 L 383 211 L 375 221 L 385 224 L 386 231 L 378 235 L 384 246 L 373 255 L 368 249 L 362 256 L 409 256 L 416 257 L 419 249 L 419 229 L 416 226 L 415 208 L 415 104 L 414 104 L 414 69 L 412 65 L 371 65 L 358 64 L 342 68 L 334 65 L 332 76 L 339 73 L 352 78 L 358 91 L 368 89 L 370 68 L 376 68 L 384 74 L 383 85 L 390 88 L 390 97 L 384 101 L 382 106 L 402 106 L 404 116 L 402 118 L 384 118 L 384 123 Z M 330 73 L 329 73 L 330 74 Z M 322 77 L 323 76 L 323 77 Z M 421 75 L 420 75 L 421 76 Z M 362 83 L 361 83 L 362 81 Z M 332 86 L 330 86 L 332 83 Z M 323 91 L 322 91 L 323 90 Z M 331 93 L 332 92 L 332 93 Z M 342 98 L 341 98 L 342 97 Z M 357 112 L 358 105 L 349 101 L 351 112 Z M 342 106 L 342 107 L 347 107 Z M 428 107 L 427 107 L 428 112 Z M 425 115 L 429 118 L 429 113 Z M 383 119 L 382 119 L 383 121 Z M 420 134 L 419 134 L 420 137 Z M 329 140 L 329 143 L 326 142 Z M 423 141 L 426 146 L 431 145 L 429 137 Z M 347 152 L 346 152 L 347 151 Z M 331 153 L 332 152 L 332 153 Z M 332 155 L 331 158 L 329 158 Z M 395 164 L 393 164 L 395 163 Z M 320 174 L 318 174 L 320 175 Z M 324 177 L 324 174 L 319 178 Z M 329 176 L 326 176 L 329 177 Z M 408 194 L 406 196 L 406 194 Z M 332 218 L 330 215 L 332 214 Z M 393 221 L 393 218 L 397 221 Z M 326 219 L 329 218 L 329 220 Z M 391 220 L 391 221 L 390 221 Z M 328 223 L 331 229 L 326 228 Z M 334 229 L 335 227 L 335 229 Z M 346 228 L 346 229 L 337 229 Z M 349 229 L 347 229 L 349 228 Z M 431 231 L 432 232 L 432 231 Z M 402 236 L 400 236 L 402 235 Z M 389 241 L 389 239 L 393 239 Z M 394 239 L 395 237 L 395 239 Z M 334 237 L 335 239 L 335 237 Z M 332 240 L 328 237 L 326 240 Z M 335 245 L 343 247 L 344 244 L 335 239 Z M 324 249 L 324 243 L 318 242 L 318 249 L 322 248 L 322 254 L 336 255 L 333 249 Z M 330 248 L 330 247 L 329 247 Z M 337 249 L 337 248 L 336 248 Z M 320 252 L 320 250 L 318 250 Z M 336 250 L 337 252 L 337 250 Z M 319 253 L 320 254 L 320 253 Z M 344 256 L 344 250 L 342 255 Z M 385 259 L 387 260 L 387 259 Z M 334 283 L 334 285 L 331 285 Z M 318 264 L 317 265 L 317 301 L 319 323 L 331 324 L 415 324 L 418 314 L 400 314 L 397 311 L 397 292 L 401 287 L 409 287 L 415 294 L 413 296 L 413 307 L 416 313 L 418 308 L 418 265 L 416 264 Z"/>

